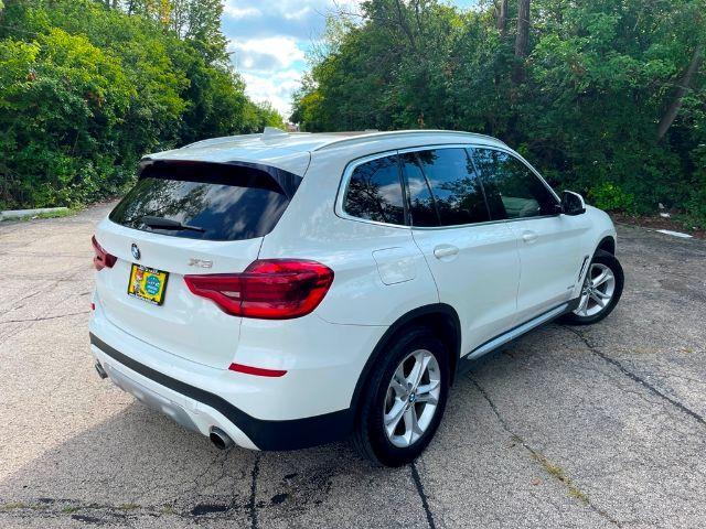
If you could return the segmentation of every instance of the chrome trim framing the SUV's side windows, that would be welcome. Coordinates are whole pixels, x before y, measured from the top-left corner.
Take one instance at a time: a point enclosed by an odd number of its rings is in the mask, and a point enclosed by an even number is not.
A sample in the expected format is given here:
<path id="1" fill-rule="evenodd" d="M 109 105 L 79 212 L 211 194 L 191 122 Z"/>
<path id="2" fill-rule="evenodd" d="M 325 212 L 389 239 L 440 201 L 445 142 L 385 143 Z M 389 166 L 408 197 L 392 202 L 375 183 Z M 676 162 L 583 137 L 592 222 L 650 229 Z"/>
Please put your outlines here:
<path id="1" fill-rule="evenodd" d="M 353 171 L 355 171 L 355 169 L 359 165 L 362 165 L 366 162 L 371 162 L 373 160 L 377 160 L 381 158 L 400 155 L 400 154 L 406 154 L 408 152 L 432 151 L 432 150 L 439 150 L 439 149 L 464 149 L 464 150 L 490 149 L 490 150 L 500 151 L 500 152 L 510 154 L 511 156 L 517 159 L 521 163 L 523 163 L 537 179 L 539 179 L 539 182 L 542 182 L 542 184 L 549 191 L 549 193 L 552 193 L 552 196 L 554 196 L 554 198 L 557 201 L 558 204 L 561 203 L 559 196 L 552 188 L 552 186 L 547 184 L 547 182 L 544 180 L 544 177 L 542 177 L 539 172 L 536 169 L 534 169 L 534 166 L 530 162 L 527 162 L 524 158 L 522 158 L 522 155 L 520 155 L 509 147 L 506 148 L 506 147 L 489 145 L 485 143 L 469 141 L 468 143 L 439 143 L 439 144 L 432 143 L 432 144 L 425 144 L 425 145 L 406 147 L 404 149 L 376 152 L 374 154 L 367 154 L 365 156 L 351 160 L 345 166 L 345 169 L 343 170 L 343 176 L 341 177 L 341 182 L 339 183 L 339 191 L 336 193 L 335 206 L 334 206 L 335 215 L 345 220 L 353 220 L 355 223 L 364 223 L 364 224 L 372 224 L 375 226 L 384 226 L 388 228 L 410 229 L 410 230 L 411 229 L 439 230 L 439 229 L 473 228 L 475 226 L 488 226 L 492 224 L 520 223 L 520 222 L 535 220 L 541 218 L 554 218 L 561 215 L 560 213 L 556 213 L 553 215 L 537 215 L 536 217 L 502 218 L 498 220 L 486 220 L 483 223 L 472 223 L 472 224 L 458 224 L 453 226 L 407 226 L 403 224 L 379 223 L 377 220 L 370 220 L 367 218 L 355 217 L 353 215 L 347 214 L 343 208 L 343 202 L 345 199 L 345 194 L 347 193 L 347 190 L 349 190 L 349 183 L 350 183 L 351 176 L 353 174 Z M 404 188 L 403 188 L 403 193 L 404 193 Z M 404 195 L 403 195 L 403 198 L 404 198 Z"/>

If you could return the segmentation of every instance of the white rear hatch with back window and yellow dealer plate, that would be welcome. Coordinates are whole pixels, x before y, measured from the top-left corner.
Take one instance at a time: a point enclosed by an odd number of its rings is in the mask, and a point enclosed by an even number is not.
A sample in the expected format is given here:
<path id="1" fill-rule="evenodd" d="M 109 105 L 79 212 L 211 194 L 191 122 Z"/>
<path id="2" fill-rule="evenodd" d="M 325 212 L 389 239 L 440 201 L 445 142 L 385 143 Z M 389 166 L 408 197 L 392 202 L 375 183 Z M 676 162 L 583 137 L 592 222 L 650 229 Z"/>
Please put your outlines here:
<path id="1" fill-rule="evenodd" d="M 168 353 L 227 367 L 240 319 L 192 294 L 183 278 L 245 270 L 299 181 L 246 163 L 147 165 L 96 231 L 97 242 L 117 258 L 96 274 L 107 320 Z"/>

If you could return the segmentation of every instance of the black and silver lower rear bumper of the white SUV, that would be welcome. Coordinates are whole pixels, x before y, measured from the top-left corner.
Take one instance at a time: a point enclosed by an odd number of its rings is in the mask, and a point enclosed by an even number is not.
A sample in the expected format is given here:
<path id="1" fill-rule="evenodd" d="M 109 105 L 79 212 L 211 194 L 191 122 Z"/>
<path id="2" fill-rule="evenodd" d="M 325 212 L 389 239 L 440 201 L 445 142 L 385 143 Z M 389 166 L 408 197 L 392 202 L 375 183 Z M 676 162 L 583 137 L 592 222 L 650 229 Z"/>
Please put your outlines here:
<path id="1" fill-rule="evenodd" d="M 352 431 L 351 409 L 302 419 L 257 419 L 213 392 L 137 361 L 93 333 L 90 345 L 94 356 L 118 387 L 204 435 L 217 427 L 246 449 L 296 450 L 339 441 Z"/>

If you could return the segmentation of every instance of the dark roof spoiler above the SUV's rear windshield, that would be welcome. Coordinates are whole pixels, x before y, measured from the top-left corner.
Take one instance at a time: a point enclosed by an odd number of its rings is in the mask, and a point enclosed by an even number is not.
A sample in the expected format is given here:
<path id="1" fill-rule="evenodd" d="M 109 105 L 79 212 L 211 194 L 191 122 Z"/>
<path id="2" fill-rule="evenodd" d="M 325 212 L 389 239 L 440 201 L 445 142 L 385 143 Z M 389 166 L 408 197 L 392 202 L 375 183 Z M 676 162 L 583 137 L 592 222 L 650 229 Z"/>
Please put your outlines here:
<path id="1" fill-rule="evenodd" d="M 295 196 L 302 181 L 302 177 L 297 174 L 263 163 L 145 158 L 140 161 L 138 179 L 147 177 L 259 187 L 282 193 L 289 199 Z"/>

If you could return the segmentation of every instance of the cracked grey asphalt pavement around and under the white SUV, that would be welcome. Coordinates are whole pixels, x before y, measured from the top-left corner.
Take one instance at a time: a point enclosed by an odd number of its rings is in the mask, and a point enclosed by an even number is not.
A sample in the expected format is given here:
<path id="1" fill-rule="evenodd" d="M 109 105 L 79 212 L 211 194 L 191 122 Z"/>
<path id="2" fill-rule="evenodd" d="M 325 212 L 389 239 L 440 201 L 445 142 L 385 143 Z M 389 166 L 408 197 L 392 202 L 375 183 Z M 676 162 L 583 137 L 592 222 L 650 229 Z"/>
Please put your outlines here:
<path id="1" fill-rule="evenodd" d="M 100 380 L 89 238 L 110 204 L 0 224 L 0 527 L 702 528 L 706 241 L 619 226 L 625 291 L 451 390 L 411 466 L 220 452 Z"/>

